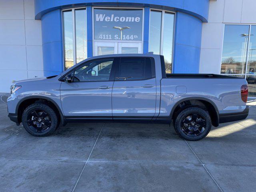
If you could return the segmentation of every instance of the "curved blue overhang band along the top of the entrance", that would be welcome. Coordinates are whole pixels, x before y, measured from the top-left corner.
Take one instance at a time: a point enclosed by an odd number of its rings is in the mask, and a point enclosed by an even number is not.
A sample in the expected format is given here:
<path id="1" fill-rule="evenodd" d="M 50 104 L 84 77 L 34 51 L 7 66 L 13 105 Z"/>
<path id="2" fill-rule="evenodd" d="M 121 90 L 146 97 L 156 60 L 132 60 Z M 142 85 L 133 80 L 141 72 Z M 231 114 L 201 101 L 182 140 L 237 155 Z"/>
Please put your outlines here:
<path id="1" fill-rule="evenodd" d="M 192 14 L 208 19 L 209 0 L 35 0 L 36 19 L 54 9 L 77 6 L 150 6 Z"/>

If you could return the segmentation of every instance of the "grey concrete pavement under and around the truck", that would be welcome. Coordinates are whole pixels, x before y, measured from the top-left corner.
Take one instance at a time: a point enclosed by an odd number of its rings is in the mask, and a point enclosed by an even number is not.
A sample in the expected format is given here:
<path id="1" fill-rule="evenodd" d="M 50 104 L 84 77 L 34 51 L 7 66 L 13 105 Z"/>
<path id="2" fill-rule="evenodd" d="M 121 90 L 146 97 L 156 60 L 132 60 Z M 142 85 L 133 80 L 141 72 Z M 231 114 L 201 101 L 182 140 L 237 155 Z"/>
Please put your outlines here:
<path id="1" fill-rule="evenodd" d="M 157 124 L 67 124 L 30 136 L 0 94 L 0 191 L 256 191 L 256 101 L 197 142 Z"/>

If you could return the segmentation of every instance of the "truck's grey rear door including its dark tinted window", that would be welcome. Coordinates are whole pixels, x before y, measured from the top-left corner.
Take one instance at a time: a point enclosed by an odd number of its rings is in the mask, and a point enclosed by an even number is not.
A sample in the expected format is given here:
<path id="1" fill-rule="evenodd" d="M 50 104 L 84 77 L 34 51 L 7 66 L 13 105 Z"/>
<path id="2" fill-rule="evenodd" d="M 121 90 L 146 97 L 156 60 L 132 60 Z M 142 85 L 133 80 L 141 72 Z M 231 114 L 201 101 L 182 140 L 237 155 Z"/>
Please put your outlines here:
<path id="1" fill-rule="evenodd" d="M 149 122 L 156 112 L 153 58 L 120 58 L 112 90 L 114 120 Z"/>

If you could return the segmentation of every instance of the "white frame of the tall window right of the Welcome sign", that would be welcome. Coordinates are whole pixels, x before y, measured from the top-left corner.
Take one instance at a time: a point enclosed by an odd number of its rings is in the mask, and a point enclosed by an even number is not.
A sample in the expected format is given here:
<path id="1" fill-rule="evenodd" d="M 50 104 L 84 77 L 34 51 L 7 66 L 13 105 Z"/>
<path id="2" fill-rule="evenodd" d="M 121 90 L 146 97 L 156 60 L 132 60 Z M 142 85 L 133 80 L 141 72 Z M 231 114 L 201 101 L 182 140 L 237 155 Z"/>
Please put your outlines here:
<path id="1" fill-rule="evenodd" d="M 164 9 L 154 9 L 154 8 L 150 8 L 150 12 L 149 12 L 149 26 L 148 26 L 148 42 L 150 40 L 150 15 L 151 15 L 151 10 L 152 11 L 160 11 L 162 12 L 162 18 L 161 18 L 161 40 L 160 40 L 160 55 L 163 54 L 163 40 L 164 40 L 164 13 L 168 12 L 168 13 L 172 13 L 174 14 L 174 27 L 173 27 L 173 37 L 172 37 L 172 73 L 173 73 L 173 54 L 174 54 L 174 37 L 175 37 L 175 30 L 176 30 L 176 12 L 173 11 L 168 11 L 168 10 L 164 10 Z M 149 51 L 149 50 L 148 50 Z"/>

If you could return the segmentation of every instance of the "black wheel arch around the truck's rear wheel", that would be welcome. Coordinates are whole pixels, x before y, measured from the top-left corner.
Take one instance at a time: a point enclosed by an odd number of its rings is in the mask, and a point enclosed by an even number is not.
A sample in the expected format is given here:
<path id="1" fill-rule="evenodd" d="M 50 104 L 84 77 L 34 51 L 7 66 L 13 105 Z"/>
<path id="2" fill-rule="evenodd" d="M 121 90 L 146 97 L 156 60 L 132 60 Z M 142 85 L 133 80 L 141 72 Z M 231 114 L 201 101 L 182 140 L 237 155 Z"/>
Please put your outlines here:
<path id="1" fill-rule="evenodd" d="M 208 98 L 203 98 L 203 97 L 188 97 L 188 98 L 183 98 L 181 100 L 178 100 L 176 102 L 176 104 L 174 104 L 172 110 L 171 110 L 171 113 L 170 113 L 170 117 L 172 119 L 175 118 L 175 112 L 177 112 L 179 110 L 179 106 L 182 102 L 188 102 L 188 101 L 199 101 L 201 102 L 202 104 L 204 104 L 204 106 L 206 106 L 209 114 L 210 114 L 210 117 L 212 118 L 212 125 L 217 127 L 219 126 L 219 111 L 218 111 L 218 108 L 216 106 L 216 104 L 208 99 Z M 188 105 L 189 106 L 189 105 Z M 192 105 L 192 106 L 197 106 L 197 105 Z"/>

